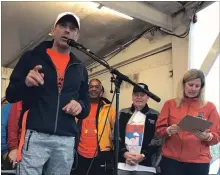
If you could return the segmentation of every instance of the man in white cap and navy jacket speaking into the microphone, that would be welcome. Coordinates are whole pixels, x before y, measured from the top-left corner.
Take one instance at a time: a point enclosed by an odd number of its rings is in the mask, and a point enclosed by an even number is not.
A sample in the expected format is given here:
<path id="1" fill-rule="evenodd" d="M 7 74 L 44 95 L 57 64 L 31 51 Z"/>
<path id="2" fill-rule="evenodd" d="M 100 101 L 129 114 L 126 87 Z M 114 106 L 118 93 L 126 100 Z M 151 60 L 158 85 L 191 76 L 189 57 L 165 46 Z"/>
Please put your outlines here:
<path id="1" fill-rule="evenodd" d="M 24 53 L 14 68 L 6 98 L 28 104 L 26 136 L 18 173 L 69 175 L 74 160 L 75 117 L 88 116 L 88 72 L 70 52 L 68 39 L 79 37 L 80 20 L 72 12 L 58 15 L 53 41 Z"/>

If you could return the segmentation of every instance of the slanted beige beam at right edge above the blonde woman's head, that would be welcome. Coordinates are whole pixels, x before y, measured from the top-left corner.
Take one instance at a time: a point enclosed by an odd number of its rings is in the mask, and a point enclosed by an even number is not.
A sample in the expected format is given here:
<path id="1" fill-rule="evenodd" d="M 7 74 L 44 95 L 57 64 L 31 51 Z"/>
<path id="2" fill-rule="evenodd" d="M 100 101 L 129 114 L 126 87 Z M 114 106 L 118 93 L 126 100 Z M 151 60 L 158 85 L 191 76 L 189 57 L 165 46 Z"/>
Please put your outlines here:
<path id="1" fill-rule="evenodd" d="M 205 60 L 202 63 L 201 70 L 204 72 L 205 75 L 208 75 L 209 71 L 211 70 L 213 64 L 215 63 L 215 60 L 218 58 L 220 49 L 220 37 L 219 34 L 215 39 L 215 42 L 213 43 L 211 49 L 209 50 L 208 55 L 206 56 Z"/>

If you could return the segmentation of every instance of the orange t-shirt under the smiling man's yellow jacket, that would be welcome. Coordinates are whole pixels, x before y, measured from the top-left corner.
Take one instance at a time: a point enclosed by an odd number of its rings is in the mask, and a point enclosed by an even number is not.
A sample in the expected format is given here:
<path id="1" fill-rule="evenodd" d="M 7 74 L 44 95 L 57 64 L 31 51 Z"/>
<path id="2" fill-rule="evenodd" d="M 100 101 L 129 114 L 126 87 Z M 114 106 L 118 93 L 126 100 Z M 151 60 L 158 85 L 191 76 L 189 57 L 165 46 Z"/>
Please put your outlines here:
<path id="1" fill-rule="evenodd" d="M 89 116 L 82 121 L 78 153 L 86 158 L 92 158 L 97 147 L 96 112 L 98 104 L 91 104 Z"/>

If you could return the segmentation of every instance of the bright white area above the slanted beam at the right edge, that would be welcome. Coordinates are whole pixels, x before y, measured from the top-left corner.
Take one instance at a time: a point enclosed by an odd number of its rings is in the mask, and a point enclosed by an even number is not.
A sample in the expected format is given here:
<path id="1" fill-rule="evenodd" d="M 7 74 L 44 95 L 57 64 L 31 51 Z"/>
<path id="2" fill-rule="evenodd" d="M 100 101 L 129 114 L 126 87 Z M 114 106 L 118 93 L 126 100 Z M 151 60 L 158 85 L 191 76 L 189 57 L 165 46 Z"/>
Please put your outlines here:
<path id="1" fill-rule="evenodd" d="M 199 69 L 220 32 L 220 4 L 212 3 L 197 13 L 198 22 L 190 30 L 190 68 Z M 210 20 L 211 19 L 211 20 Z"/>

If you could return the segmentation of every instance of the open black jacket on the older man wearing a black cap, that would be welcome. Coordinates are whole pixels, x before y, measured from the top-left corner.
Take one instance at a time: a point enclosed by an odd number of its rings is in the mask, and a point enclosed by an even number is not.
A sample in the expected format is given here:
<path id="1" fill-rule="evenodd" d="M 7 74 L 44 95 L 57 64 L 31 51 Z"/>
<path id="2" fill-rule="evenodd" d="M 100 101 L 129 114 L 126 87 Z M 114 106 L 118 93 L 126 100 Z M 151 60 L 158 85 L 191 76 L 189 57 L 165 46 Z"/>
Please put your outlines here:
<path id="1" fill-rule="evenodd" d="M 119 115 L 119 162 L 125 162 L 124 153 L 128 150 L 125 145 L 125 130 L 126 125 L 135 111 L 134 106 L 131 108 L 122 109 Z M 158 117 L 158 112 L 149 108 L 147 105 L 141 111 L 146 115 L 144 138 L 141 148 L 141 154 L 145 155 L 145 159 L 140 162 L 144 166 L 156 166 L 156 161 L 160 156 L 162 139 L 156 136 L 155 125 Z"/>

